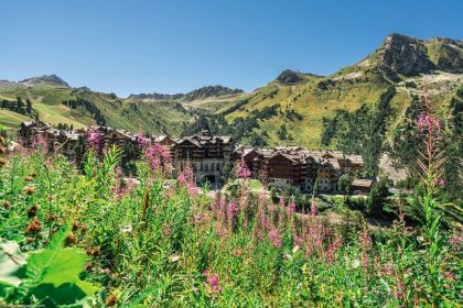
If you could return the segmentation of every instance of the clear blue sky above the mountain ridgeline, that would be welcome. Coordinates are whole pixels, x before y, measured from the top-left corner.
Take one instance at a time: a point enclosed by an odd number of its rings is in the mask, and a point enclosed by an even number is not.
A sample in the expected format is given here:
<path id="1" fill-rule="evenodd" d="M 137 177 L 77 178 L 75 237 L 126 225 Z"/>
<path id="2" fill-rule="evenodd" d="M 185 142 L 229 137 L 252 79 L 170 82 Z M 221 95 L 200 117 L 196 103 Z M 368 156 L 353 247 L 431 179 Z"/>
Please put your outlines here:
<path id="1" fill-rule="evenodd" d="M 0 79 L 57 74 L 127 96 L 252 90 L 286 68 L 331 74 L 391 32 L 463 40 L 463 1 L 3 0 Z"/>

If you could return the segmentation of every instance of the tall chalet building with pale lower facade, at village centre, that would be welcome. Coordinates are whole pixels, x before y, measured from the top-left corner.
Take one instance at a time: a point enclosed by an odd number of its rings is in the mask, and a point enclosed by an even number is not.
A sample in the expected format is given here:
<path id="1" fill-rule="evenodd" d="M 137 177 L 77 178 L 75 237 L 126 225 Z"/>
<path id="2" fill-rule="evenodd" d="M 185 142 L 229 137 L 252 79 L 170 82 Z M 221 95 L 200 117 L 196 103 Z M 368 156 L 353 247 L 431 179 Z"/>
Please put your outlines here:
<path id="1" fill-rule="evenodd" d="M 234 146 L 229 136 L 213 136 L 208 130 L 185 136 L 172 146 L 174 170 L 177 174 L 189 164 L 196 184 L 208 182 L 217 187 L 224 165 L 232 162 Z"/>

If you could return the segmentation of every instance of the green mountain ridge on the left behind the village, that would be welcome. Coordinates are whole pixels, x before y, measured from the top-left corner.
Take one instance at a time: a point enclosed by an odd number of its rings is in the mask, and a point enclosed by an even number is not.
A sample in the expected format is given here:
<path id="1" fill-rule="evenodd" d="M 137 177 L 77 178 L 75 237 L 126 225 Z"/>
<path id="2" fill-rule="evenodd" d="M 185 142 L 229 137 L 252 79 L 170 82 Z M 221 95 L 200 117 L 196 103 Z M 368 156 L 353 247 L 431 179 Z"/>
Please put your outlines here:
<path id="1" fill-rule="evenodd" d="M 60 81 L 61 80 L 61 81 Z M 152 103 L 141 99 L 121 99 L 114 94 L 86 87 L 64 86 L 58 77 L 35 77 L 24 81 L 0 81 L 0 124 L 18 129 L 22 121 L 36 116 L 52 124 L 66 123 L 75 129 L 105 124 L 132 132 L 179 135 L 194 114 L 176 102 Z M 67 85 L 67 84 L 66 84 Z M 17 98 L 32 102 L 32 112 L 17 109 Z M 9 108 L 4 108 L 9 106 Z"/>

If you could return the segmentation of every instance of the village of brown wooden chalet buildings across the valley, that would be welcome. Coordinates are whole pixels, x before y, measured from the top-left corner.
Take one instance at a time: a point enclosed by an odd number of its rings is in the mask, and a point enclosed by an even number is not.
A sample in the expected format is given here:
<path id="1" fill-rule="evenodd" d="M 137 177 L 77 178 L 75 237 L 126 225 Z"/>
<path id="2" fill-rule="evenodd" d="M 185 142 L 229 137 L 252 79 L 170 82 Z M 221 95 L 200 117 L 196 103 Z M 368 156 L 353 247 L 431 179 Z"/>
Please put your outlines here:
<path id="1" fill-rule="evenodd" d="M 56 129 L 41 121 L 22 122 L 18 140 L 24 146 L 32 146 L 40 135 L 46 141 L 49 151 L 79 161 L 88 146 L 87 130 Z M 99 134 L 103 148 L 117 145 L 127 152 L 127 160 L 140 157 L 137 134 L 108 127 L 94 130 Z M 250 170 L 251 179 L 260 180 L 267 189 L 282 190 L 293 186 L 304 194 L 312 194 L 316 183 L 320 193 L 334 194 L 338 193 L 340 177 L 351 175 L 352 193 L 367 195 L 375 182 L 374 178 L 362 178 L 364 161 L 360 155 L 340 151 L 315 151 L 302 146 L 246 147 L 236 144 L 230 136 L 213 135 L 208 129 L 181 139 L 168 135 L 144 138 L 169 153 L 172 178 L 187 164 L 193 169 L 196 185 L 207 183 L 213 189 L 226 184 L 224 174 L 240 161 Z"/>

